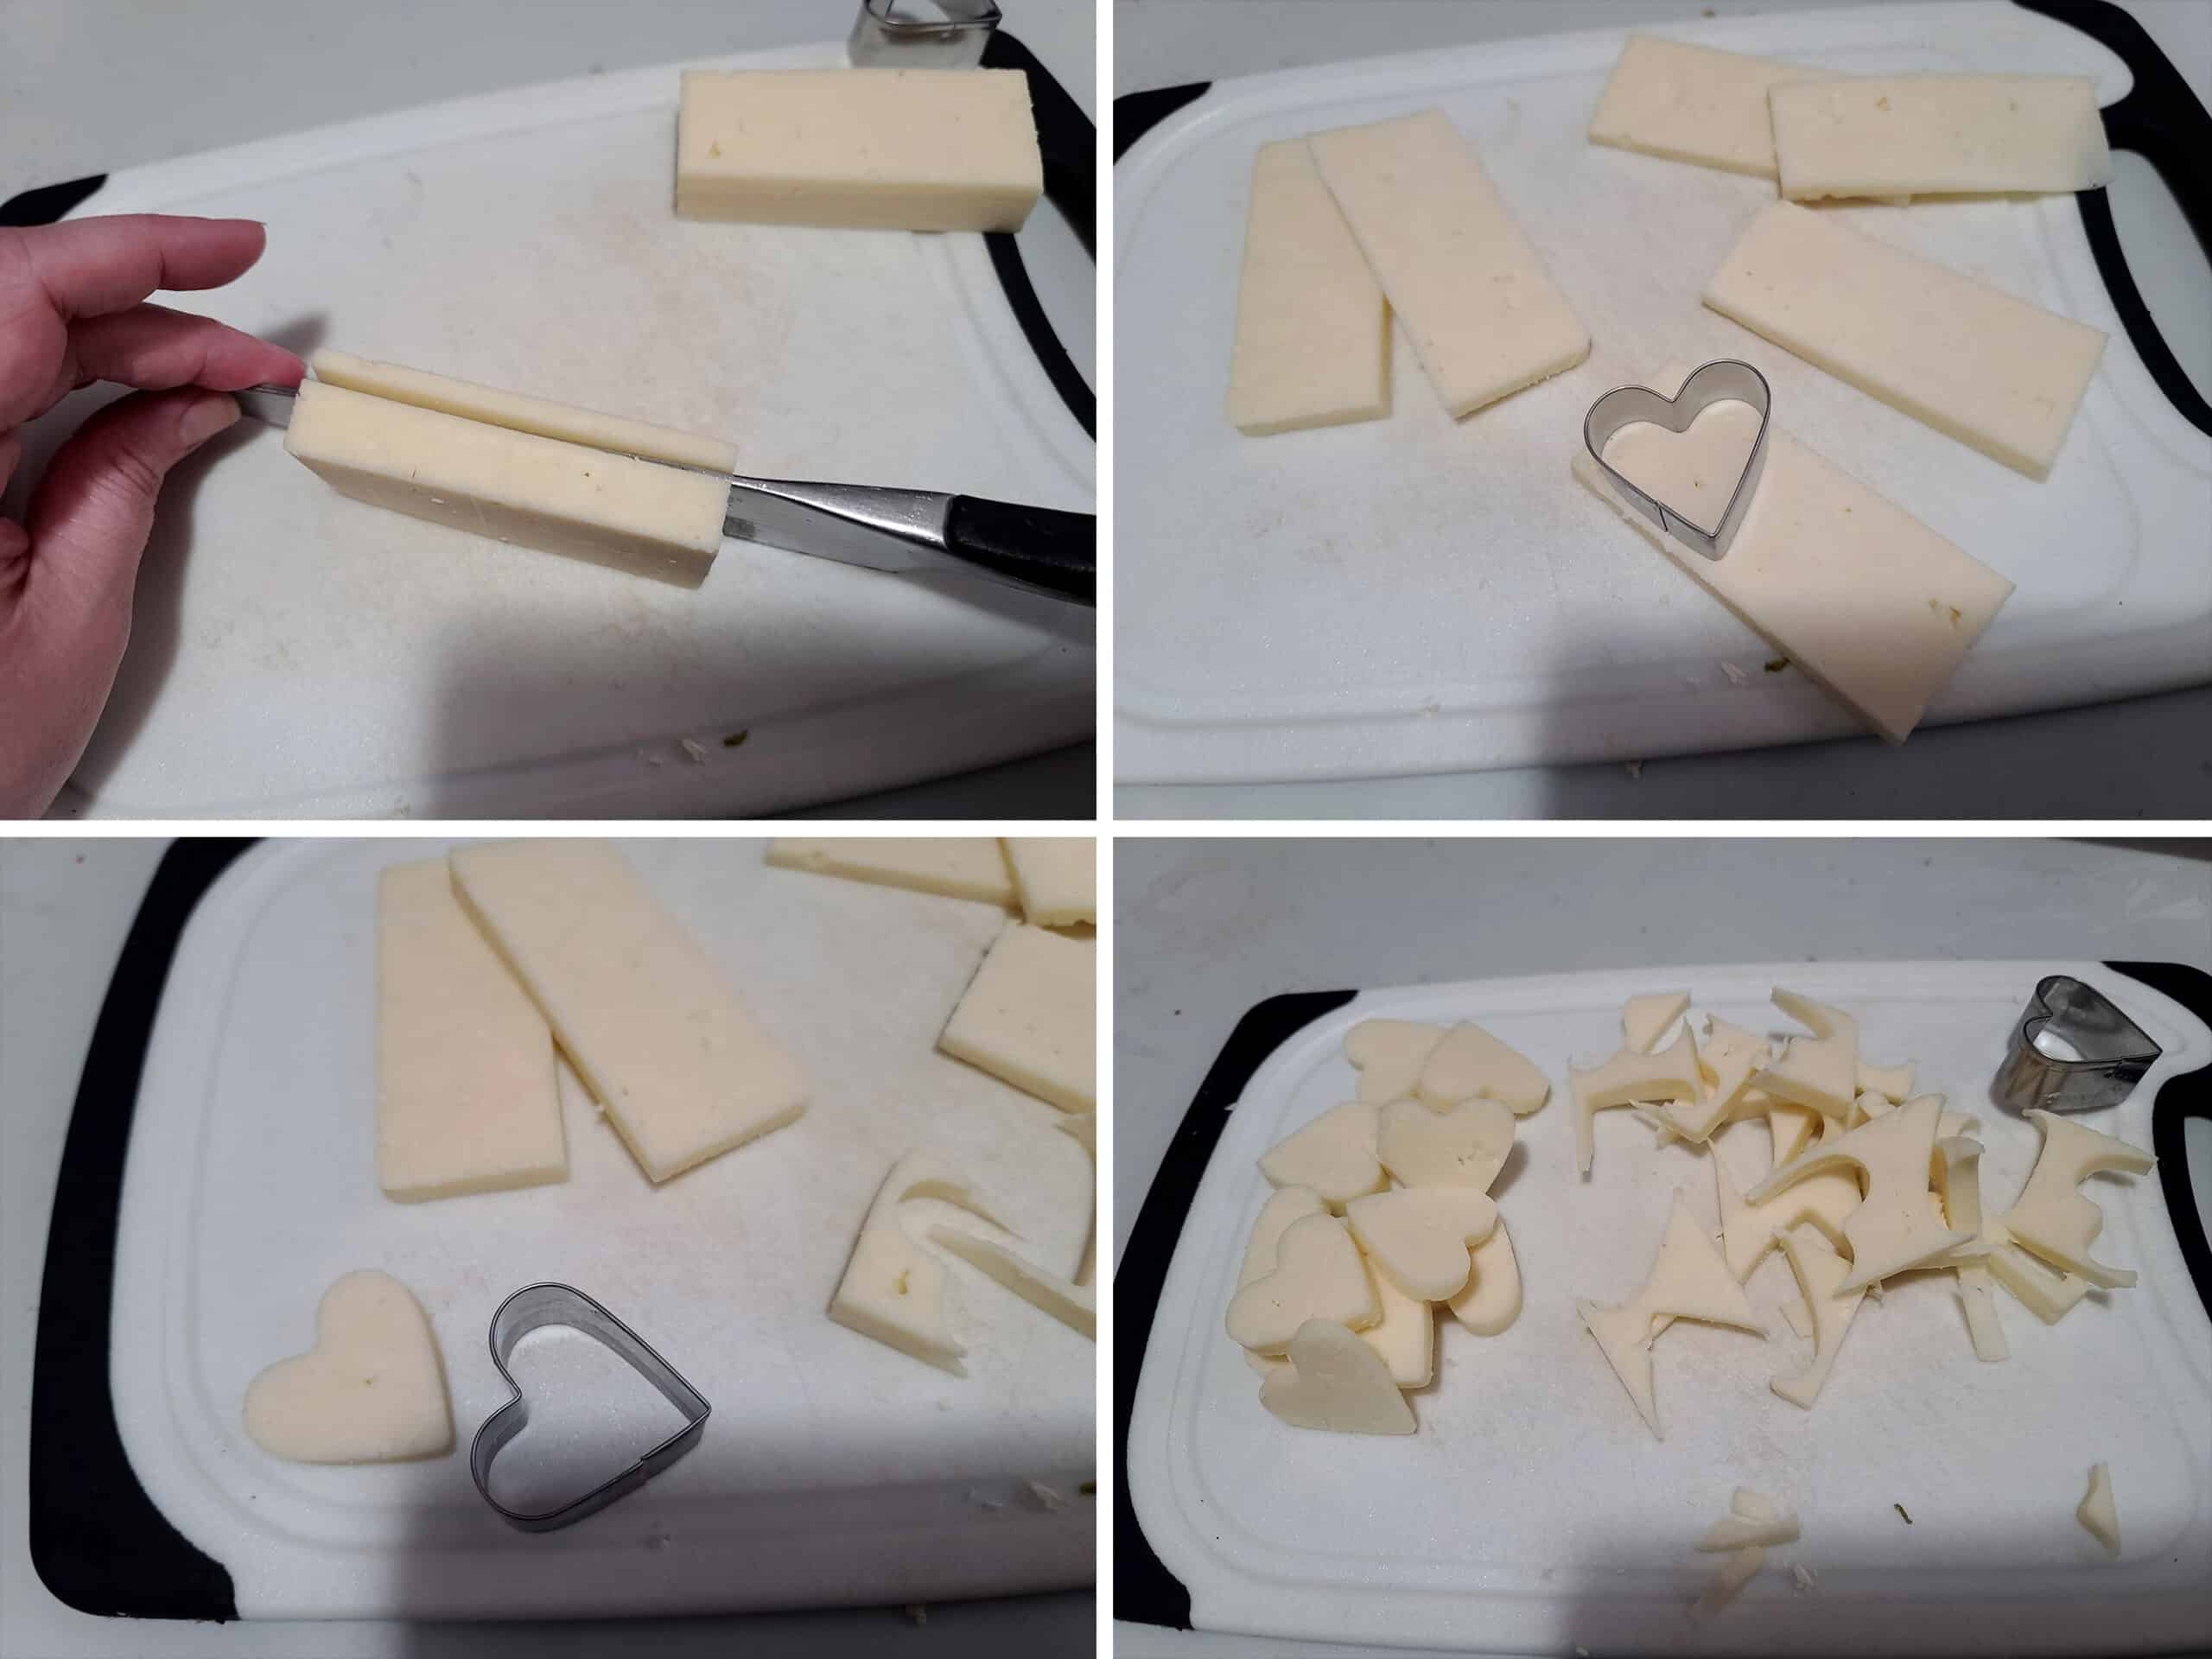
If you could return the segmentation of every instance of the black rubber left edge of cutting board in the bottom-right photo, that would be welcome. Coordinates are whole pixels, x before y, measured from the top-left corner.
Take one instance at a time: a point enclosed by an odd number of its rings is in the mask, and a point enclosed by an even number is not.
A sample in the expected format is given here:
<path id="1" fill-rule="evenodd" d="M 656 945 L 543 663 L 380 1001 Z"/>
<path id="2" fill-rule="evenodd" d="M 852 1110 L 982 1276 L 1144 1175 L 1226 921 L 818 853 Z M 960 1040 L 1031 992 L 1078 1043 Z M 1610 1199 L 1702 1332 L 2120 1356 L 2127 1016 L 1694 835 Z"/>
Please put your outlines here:
<path id="1" fill-rule="evenodd" d="M 1230 1040 L 1221 1044 L 1199 1093 L 1183 1113 L 1181 1128 L 1168 1141 L 1152 1188 L 1144 1194 L 1128 1248 L 1113 1270 L 1113 1316 L 1121 1332 L 1113 1356 L 1115 1444 L 1121 1449 L 1113 1471 L 1113 1615 L 1130 1624 L 1161 1624 L 1170 1630 L 1190 1628 L 1190 1590 L 1170 1573 L 1144 1528 L 1128 1495 L 1128 1418 L 1137 1405 L 1137 1378 L 1144 1376 L 1144 1352 L 1152 1340 L 1152 1316 L 1159 1312 L 1159 1290 L 1168 1281 L 1168 1263 L 1190 1219 L 1190 1201 L 1199 1179 L 1214 1157 L 1230 1110 L 1243 1095 L 1252 1073 L 1305 1026 L 1352 1002 L 1354 991 L 1290 991 L 1254 1004 Z"/>

